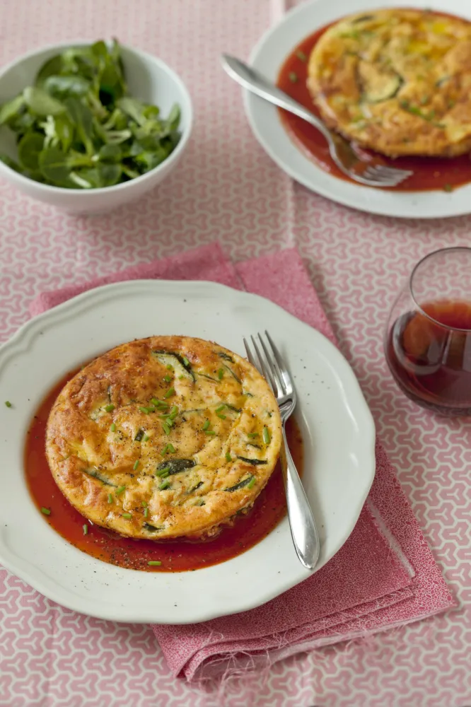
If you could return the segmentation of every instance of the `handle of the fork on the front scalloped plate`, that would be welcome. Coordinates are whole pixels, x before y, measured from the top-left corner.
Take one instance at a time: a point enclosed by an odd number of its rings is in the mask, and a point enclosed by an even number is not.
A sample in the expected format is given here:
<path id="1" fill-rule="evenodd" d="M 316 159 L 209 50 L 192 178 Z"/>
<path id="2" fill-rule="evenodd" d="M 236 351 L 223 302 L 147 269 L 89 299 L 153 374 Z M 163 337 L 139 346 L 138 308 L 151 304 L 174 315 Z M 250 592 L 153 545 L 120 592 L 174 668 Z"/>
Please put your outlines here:
<path id="1" fill-rule="evenodd" d="M 284 453 L 282 452 L 281 457 L 284 457 L 282 458 L 284 463 L 281 463 L 281 467 L 284 472 L 291 537 L 301 563 L 308 570 L 313 570 L 319 558 L 319 534 L 306 491 L 304 491 L 303 484 L 301 484 L 296 464 L 293 462 L 293 457 L 291 457 L 291 452 L 289 451 L 284 425 L 283 439 Z"/>

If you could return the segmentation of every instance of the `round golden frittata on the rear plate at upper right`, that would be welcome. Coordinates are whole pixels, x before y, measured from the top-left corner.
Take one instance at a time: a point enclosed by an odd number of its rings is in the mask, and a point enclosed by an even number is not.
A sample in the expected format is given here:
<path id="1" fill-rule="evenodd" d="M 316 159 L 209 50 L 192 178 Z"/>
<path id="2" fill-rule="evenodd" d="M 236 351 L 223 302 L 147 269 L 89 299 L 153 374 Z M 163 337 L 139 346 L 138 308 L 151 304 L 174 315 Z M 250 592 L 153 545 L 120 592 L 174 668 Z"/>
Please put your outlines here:
<path id="1" fill-rule="evenodd" d="M 471 149 L 471 23 L 389 8 L 332 25 L 308 88 L 325 123 L 391 157 Z"/>

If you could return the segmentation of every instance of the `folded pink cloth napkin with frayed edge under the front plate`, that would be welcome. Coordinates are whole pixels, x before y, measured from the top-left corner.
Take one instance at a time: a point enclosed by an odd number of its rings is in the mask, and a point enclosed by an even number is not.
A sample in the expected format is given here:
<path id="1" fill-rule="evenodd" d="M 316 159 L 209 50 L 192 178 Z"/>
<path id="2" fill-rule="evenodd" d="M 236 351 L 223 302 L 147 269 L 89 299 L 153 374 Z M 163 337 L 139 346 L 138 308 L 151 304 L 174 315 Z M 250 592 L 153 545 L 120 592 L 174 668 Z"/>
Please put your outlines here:
<path id="1" fill-rule="evenodd" d="M 296 249 L 234 266 L 219 244 L 211 244 L 42 293 L 30 312 L 38 314 L 98 285 L 139 278 L 212 280 L 245 288 L 336 343 Z M 249 612 L 190 626 L 153 626 L 173 674 L 189 680 L 237 674 L 455 605 L 380 443 L 376 460 L 376 479 L 354 532 L 315 575 Z"/>

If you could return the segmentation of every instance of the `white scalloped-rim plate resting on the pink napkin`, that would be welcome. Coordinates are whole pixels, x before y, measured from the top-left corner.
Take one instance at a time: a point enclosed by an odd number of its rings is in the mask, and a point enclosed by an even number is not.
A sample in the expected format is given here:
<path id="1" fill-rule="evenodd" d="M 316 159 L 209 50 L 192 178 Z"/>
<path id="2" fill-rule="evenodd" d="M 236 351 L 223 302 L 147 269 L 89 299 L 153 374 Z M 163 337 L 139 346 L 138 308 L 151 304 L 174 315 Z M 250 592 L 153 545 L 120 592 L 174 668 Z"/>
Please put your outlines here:
<path id="1" fill-rule="evenodd" d="M 373 420 L 347 361 L 325 337 L 268 300 L 210 282 L 153 280 L 83 293 L 31 320 L 1 347 L 0 561 L 70 609 L 161 624 L 241 612 L 306 579 L 286 519 L 245 554 L 196 572 L 117 568 L 52 530 L 23 477 L 25 433 L 35 409 L 74 366 L 153 334 L 212 339 L 244 355 L 243 336 L 267 322 L 296 378 L 304 483 L 320 528 L 319 567 L 327 562 L 351 533 L 375 471 Z"/>

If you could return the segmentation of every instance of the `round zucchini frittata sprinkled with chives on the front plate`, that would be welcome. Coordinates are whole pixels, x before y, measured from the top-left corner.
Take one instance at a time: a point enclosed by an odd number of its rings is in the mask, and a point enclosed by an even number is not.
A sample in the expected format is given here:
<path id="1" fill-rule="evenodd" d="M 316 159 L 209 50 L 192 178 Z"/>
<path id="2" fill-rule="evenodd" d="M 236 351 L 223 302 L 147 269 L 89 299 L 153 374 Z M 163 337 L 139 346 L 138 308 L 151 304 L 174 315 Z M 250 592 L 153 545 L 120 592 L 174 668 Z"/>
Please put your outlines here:
<path id="1" fill-rule="evenodd" d="M 280 445 L 277 403 L 260 373 L 217 344 L 176 336 L 122 344 L 83 368 L 54 403 L 46 437 L 71 504 L 146 539 L 219 532 L 255 501 Z"/>

